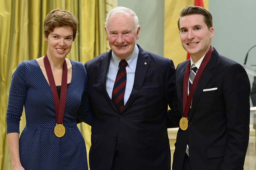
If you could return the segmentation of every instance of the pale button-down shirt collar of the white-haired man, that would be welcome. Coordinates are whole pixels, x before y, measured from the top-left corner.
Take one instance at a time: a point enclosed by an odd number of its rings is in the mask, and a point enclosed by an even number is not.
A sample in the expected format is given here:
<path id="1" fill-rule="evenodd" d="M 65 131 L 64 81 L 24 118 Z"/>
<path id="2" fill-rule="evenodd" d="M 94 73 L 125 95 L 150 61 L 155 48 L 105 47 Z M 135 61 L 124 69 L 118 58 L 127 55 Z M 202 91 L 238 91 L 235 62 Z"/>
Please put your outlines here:
<path id="1" fill-rule="evenodd" d="M 128 63 L 127 66 L 128 66 L 131 70 L 134 69 L 134 66 L 135 66 L 136 63 L 137 63 L 138 55 L 139 55 L 139 48 L 138 48 L 138 46 L 135 44 L 135 48 L 134 48 L 132 54 L 131 54 L 129 57 L 127 57 L 127 58 L 125 59 L 125 61 Z M 113 51 L 112 51 L 111 61 L 113 62 L 113 64 L 114 64 L 116 70 L 118 70 L 119 63 L 120 63 L 121 59 L 118 58 L 118 57 L 115 55 L 115 53 L 114 53 Z"/>

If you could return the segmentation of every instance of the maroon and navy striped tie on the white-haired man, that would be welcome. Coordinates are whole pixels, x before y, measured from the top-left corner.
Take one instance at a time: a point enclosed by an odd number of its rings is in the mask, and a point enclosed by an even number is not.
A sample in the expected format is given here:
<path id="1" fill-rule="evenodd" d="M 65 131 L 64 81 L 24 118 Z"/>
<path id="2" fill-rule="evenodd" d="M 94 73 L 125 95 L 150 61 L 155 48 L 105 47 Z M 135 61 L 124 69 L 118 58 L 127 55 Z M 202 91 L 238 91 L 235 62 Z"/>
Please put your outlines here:
<path id="1" fill-rule="evenodd" d="M 124 108 L 124 92 L 126 86 L 126 66 L 127 62 L 121 60 L 119 63 L 119 69 L 116 75 L 116 81 L 112 91 L 111 100 L 115 103 L 119 112 Z"/>

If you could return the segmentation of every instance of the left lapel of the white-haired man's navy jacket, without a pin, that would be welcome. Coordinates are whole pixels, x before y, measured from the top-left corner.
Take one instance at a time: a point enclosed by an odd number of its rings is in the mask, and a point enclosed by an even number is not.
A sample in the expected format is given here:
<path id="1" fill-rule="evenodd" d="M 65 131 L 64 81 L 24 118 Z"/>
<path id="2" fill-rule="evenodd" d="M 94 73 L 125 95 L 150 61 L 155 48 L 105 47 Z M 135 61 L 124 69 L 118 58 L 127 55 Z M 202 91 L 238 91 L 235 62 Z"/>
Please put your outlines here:
<path id="1" fill-rule="evenodd" d="M 103 91 L 103 95 L 105 96 L 106 100 L 108 101 L 109 105 L 111 105 L 118 113 L 119 111 L 116 108 L 116 105 L 111 100 L 106 90 L 106 78 L 109 69 L 110 59 L 111 59 L 112 50 L 106 53 L 105 56 L 99 61 L 99 69 L 100 69 L 100 85 L 101 90 Z"/>

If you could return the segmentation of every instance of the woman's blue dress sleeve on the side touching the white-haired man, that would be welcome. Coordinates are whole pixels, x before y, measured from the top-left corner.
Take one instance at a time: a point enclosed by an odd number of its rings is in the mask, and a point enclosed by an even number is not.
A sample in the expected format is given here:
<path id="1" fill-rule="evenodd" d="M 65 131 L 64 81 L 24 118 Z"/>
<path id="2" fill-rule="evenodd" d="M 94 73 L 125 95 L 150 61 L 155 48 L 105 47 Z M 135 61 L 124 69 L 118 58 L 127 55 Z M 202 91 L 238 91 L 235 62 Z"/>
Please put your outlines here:
<path id="1" fill-rule="evenodd" d="M 84 92 L 81 99 L 81 105 L 77 110 L 76 116 L 78 120 L 83 121 L 86 124 L 92 125 L 93 117 L 92 117 L 92 112 L 90 110 L 89 100 L 88 100 L 87 73 L 84 66 L 83 66 L 83 69 L 84 69 Z"/>

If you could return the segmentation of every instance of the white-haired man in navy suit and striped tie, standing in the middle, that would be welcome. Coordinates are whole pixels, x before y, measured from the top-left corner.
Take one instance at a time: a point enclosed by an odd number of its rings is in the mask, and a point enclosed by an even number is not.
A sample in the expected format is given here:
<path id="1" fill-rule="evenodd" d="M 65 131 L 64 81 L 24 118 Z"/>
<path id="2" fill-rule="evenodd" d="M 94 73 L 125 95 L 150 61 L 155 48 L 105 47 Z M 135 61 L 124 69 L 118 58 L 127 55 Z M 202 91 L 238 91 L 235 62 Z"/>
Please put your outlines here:
<path id="1" fill-rule="evenodd" d="M 85 63 L 94 111 L 90 169 L 170 170 L 173 62 L 136 44 L 140 26 L 128 8 L 111 10 L 105 30 L 111 50 Z"/>

